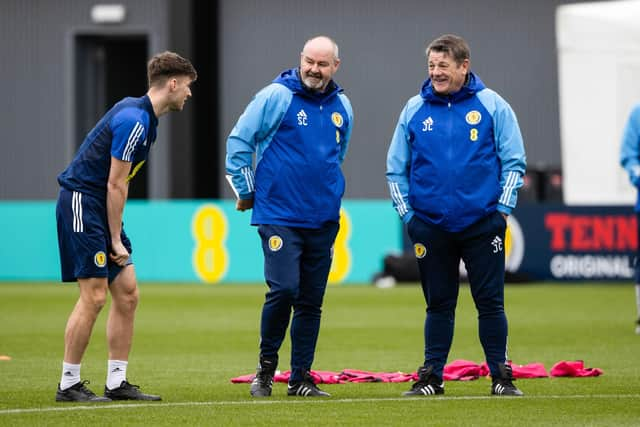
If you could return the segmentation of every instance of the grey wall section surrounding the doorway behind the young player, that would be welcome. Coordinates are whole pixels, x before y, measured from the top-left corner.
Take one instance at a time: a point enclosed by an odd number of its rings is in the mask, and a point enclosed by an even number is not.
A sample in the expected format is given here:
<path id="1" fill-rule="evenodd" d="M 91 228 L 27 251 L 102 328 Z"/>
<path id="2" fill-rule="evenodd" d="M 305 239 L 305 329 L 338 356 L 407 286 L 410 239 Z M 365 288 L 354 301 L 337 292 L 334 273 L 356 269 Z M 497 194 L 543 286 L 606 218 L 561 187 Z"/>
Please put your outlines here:
<path id="1" fill-rule="evenodd" d="M 147 34 L 150 51 L 164 50 L 167 2 L 119 1 L 127 8 L 125 24 L 104 26 L 90 22 L 92 1 L 0 0 L 0 199 L 57 196 L 56 175 L 74 152 L 75 34 Z M 132 94 L 136 95 L 142 94 Z M 164 122 L 161 127 L 168 127 Z M 149 170 L 154 197 L 168 194 L 163 134 L 161 129 L 154 148 L 156 167 Z"/>

